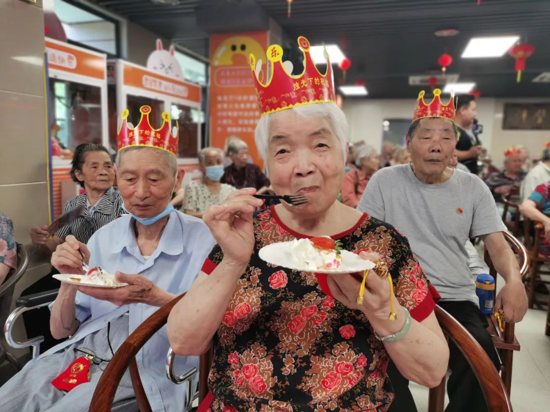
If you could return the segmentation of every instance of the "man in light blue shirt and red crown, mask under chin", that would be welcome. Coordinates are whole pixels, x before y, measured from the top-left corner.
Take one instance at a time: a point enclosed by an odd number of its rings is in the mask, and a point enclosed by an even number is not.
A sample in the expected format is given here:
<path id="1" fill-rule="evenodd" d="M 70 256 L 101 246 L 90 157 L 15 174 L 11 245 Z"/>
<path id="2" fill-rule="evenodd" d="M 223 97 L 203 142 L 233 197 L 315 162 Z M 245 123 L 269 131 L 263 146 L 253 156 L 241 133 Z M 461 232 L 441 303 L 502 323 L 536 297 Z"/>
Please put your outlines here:
<path id="1" fill-rule="evenodd" d="M 140 109 L 140 124 L 131 128 L 123 113 L 119 131 L 117 181 L 128 215 L 98 230 L 86 244 L 73 236 L 57 247 L 52 265 L 61 273 L 84 274 L 90 266 L 116 273 L 128 283 L 97 288 L 62 283 L 52 304 L 50 328 L 56 338 L 69 339 L 25 366 L 0 388 L 2 411 L 87 411 L 112 351 L 146 318 L 189 289 L 199 273 L 213 238 L 202 220 L 174 210 L 172 190 L 180 185 L 178 139 L 163 113 L 159 130 L 149 124 L 151 108 Z M 160 138 L 158 137 L 160 136 Z M 147 399 L 153 411 L 180 410 L 185 386 L 170 382 L 164 372 L 169 348 L 166 328 L 157 332 L 136 355 Z M 52 384 L 80 357 L 90 362 L 89 381 L 63 391 Z M 179 358 L 178 370 L 198 365 L 198 358 Z M 123 376 L 113 410 L 137 410 L 128 372 Z"/>

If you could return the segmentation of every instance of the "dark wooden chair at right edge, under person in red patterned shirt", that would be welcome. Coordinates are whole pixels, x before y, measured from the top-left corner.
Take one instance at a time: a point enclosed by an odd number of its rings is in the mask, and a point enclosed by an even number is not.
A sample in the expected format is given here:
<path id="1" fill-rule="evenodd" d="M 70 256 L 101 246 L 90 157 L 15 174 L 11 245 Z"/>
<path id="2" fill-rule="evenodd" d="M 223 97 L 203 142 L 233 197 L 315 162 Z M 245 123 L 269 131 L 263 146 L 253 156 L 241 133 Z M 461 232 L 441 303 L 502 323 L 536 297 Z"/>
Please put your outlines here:
<path id="1" fill-rule="evenodd" d="M 550 281 L 542 280 L 540 275 L 550 275 L 550 270 L 542 270 L 543 263 L 550 264 L 550 257 L 546 257 L 539 252 L 541 244 L 541 234 L 544 232 L 544 226 L 541 223 L 533 223 L 529 218 L 524 216 L 524 242 L 529 255 L 529 275 L 524 280 L 527 289 L 527 298 L 529 298 L 529 308 L 543 307 L 548 303 L 542 299 L 538 299 L 535 295 L 535 287 L 537 284 L 550 285 Z"/>

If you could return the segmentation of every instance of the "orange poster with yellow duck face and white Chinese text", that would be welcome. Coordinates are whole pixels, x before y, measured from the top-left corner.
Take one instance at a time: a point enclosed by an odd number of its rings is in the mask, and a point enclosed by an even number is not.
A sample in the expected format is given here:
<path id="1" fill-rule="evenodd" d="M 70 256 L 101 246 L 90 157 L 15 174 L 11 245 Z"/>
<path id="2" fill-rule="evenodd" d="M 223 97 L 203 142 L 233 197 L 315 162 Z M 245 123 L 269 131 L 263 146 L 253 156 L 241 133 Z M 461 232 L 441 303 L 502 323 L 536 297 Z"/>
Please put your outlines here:
<path id="1" fill-rule="evenodd" d="M 239 136 L 248 144 L 254 163 L 261 167 L 263 162 L 254 144 L 260 110 L 249 55 L 265 57 L 267 41 L 267 31 L 210 36 L 210 145 L 223 148 L 227 137 Z"/>

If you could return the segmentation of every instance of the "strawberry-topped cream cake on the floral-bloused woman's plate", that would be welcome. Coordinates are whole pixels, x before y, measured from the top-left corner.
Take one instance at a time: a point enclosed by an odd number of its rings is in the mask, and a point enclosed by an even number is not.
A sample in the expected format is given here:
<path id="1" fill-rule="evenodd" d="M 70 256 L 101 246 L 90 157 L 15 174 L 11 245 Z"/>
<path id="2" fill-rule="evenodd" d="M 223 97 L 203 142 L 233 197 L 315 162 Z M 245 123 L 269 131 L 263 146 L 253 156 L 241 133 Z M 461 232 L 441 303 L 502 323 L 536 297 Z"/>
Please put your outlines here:
<path id="1" fill-rule="evenodd" d="M 328 236 L 295 239 L 290 248 L 300 268 L 334 270 L 342 263 L 340 243 Z"/>

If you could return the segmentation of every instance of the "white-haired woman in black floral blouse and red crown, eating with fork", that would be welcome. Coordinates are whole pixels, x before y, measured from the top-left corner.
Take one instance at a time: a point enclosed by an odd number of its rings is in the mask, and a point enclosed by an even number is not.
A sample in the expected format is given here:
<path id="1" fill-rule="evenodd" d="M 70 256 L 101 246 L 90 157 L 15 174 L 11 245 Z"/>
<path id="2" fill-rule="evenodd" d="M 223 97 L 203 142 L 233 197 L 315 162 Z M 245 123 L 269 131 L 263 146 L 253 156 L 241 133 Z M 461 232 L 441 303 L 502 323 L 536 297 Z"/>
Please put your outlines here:
<path id="1" fill-rule="evenodd" d="M 176 353 L 199 355 L 213 344 L 210 394 L 200 410 L 387 410 L 390 358 L 421 385 L 436 386 L 447 370 L 448 347 L 433 313 L 438 294 L 406 238 L 337 201 L 346 119 L 334 103 L 331 65 L 321 75 L 309 42 L 300 37 L 299 45 L 300 76 L 287 74 L 288 62 L 283 69 L 279 46 L 267 52 L 268 86 L 257 80 L 261 63 L 252 56 L 251 66 L 262 112 L 256 145 L 273 190 L 308 202 L 255 213 L 262 201 L 243 189 L 208 209 L 203 218 L 218 244 L 168 319 Z M 381 259 L 377 268 L 391 277 L 371 271 L 358 304 L 359 274 L 286 269 L 259 257 L 272 243 L 323 236 L 363 259 Z"/>

